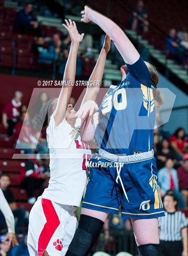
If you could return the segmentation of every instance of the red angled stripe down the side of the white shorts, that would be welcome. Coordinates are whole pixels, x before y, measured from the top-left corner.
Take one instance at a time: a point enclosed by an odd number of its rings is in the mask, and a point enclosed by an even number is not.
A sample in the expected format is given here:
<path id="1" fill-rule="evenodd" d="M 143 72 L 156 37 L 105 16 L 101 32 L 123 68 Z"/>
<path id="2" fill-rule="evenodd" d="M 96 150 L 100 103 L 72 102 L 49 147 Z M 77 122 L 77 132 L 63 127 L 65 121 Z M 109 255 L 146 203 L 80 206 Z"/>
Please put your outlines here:
<path id="1" fill-rule="evenodd" d="M 56 210 L 50 200 L 42 198 L 43 212 L 47 222 L 38 239 L 38 256 L 43 256 L 48 243 L 57 227 L 60 225 L 60 220 L 57 216 Z"/>

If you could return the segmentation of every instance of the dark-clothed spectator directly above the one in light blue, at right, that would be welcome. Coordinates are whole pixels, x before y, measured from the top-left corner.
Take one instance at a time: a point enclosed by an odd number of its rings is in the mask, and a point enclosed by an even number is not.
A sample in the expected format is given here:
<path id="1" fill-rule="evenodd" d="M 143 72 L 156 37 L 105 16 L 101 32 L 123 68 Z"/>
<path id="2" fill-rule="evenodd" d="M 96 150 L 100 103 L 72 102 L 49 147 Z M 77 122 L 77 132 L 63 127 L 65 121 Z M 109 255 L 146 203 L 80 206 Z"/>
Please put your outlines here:
<path id="1" fill-rule="evenodd" d="M 174 165 L 177 162 L 176 153 L 174 149 L 171 148 L 170 142 L 166 138 L 162 139 L 161 148 L 155 153 L 155 156 L 157 158 L 158 170 L 165 166 L 165 162 L 168 158 L 173 160 Z"/>

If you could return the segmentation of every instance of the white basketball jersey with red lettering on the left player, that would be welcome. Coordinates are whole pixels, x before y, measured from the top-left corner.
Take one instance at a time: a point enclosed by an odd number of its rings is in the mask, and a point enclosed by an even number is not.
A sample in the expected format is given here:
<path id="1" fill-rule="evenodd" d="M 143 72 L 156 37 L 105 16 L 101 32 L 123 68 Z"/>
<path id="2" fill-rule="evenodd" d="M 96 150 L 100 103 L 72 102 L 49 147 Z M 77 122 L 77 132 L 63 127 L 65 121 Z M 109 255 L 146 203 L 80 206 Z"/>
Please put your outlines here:
<path id="1" fill-rule="evenodd" d="M 89 146 L 81 139 L 79 129 L 74 129 L 65 119 L 56 126 L 53 114 L 47 127 L 47 142 L 50 181 L 41 197 L 79 207 L 87 181 L 86 166 L 91 157 Z"/>

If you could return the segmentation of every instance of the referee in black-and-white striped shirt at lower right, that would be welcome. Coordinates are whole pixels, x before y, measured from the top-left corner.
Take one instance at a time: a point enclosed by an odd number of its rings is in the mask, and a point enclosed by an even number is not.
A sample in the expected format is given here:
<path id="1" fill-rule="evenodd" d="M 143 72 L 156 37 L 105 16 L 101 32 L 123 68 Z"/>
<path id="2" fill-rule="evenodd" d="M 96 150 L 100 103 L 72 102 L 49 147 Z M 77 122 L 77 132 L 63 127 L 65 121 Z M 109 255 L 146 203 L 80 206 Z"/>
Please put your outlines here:
<path id="1" fill-rule="evenodd" d="M 177 210 L 178 198 L 167 194 L 163 199 L 165 217 L 158 219 L 159 239 L 163 256 L 188 256 L 187 220 Z"/>

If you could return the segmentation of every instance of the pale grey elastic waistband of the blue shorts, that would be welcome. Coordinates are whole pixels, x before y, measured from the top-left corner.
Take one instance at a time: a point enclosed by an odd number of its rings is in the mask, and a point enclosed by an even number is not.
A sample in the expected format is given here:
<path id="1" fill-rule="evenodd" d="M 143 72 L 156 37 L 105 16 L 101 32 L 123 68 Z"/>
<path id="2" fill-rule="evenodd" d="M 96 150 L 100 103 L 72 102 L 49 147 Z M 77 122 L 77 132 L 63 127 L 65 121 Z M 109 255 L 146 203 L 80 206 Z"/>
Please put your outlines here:
<path id="1" fill-rule="evenodd" d="M 107 151 L 105 151 L 102 148 L 99 148 L 98 153 L 101 157 L 106 158 L 110 161 L 125 162 L 125 163 L 126 162 L 127 163 L 141 162 L 141 161 L 149 160 L 149 159 L 154 157 L 154 150 L 153 149 L 148 151 L 148 152 L 143 152 L 143 153 L 139 153 L 139 154 L 135 154 L 135 155 L 129 155 L 129 156 L 114 155 L 114 154 L 108 153 Z"/>

